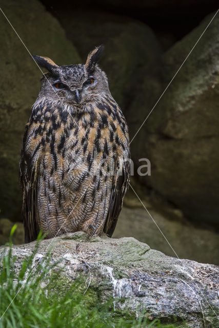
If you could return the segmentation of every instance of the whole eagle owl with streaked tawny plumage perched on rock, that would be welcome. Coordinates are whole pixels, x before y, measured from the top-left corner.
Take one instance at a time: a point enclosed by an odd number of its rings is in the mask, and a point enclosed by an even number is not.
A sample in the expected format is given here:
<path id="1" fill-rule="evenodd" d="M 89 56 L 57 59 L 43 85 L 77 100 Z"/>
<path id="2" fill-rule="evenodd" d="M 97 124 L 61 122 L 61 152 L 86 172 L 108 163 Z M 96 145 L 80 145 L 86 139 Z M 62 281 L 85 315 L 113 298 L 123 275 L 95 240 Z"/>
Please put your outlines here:
<path id="1" fill-rule="evenodd" d="M 111 237 L 129 183 L 129 135 L 97 61 L 47 69 L 25 127 L 19 181 L 25 242 L 67 232 Z"/>

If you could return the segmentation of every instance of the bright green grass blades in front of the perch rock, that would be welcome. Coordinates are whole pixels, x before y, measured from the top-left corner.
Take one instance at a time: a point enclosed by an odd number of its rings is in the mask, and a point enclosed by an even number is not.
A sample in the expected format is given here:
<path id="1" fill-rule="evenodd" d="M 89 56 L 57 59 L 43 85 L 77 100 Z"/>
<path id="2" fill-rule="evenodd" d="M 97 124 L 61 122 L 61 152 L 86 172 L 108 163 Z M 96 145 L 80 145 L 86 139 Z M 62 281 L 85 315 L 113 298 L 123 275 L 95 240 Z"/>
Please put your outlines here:
<path id="1" fill-rule="evenodd" d="M 84 295 L 83 279 L 57 293 L 54 287 L 62 281 L 62 275 L 57 263 L 50 263 L 49 253 L 35 268 L 32 267 L 40 239 L 33 254 L 22 260 L 16 271 L 12 240 L 5 248 L 0 261 L 0 317 L 3 315 L 0 328 L 175 328 L 173 324 L 162 325 L 158 320 L 148 323 L 142 317 L 136 320 L 127 313 L 116 313 L 113 300 L 95 304 L 98 302 L 95 297 L 92 301 L 89 289 Z"/>

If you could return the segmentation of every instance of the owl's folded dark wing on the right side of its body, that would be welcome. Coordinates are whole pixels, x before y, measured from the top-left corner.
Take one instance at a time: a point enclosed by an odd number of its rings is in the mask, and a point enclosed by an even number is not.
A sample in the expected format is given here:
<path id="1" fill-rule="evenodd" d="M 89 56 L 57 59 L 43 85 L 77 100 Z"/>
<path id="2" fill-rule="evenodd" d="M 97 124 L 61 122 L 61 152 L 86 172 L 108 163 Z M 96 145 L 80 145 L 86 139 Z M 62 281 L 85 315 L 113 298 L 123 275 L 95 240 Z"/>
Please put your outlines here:
<path id="1" fill-rule="evenodd" d="M 130 163 L 120 161 L 117 162 L 117 174 L 115 174 L 112 182 L 112 191 L 109 203 L 109 211 L 107 214 L 104 232 L 111 237 L 118 220 L 118 216 L 122 210 L 123 198 L 129 185 Z"/>

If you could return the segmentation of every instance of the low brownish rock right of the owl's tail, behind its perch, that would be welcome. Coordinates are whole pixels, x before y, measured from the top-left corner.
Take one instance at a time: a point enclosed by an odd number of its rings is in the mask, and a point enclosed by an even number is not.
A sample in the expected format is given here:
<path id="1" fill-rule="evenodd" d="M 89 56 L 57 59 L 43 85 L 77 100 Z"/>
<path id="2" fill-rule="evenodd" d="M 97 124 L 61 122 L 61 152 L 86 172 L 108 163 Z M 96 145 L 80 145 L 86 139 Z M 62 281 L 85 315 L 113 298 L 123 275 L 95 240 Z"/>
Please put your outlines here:
<path id="1" fill-rule="evenodd" d="M 178 257 L 219 265 L 218 233 L 207 227 L 194 226 L 186 218 L 177 216 L 176 211 L 171 213 L 169 209 L 169 212 L 160 213 L 154 207 L 146 208 Z M 134 237 L 166 255 L 176 256 L 152 218 L 142 206 L 134 209 L 123 207 L 113 238 Z"/>

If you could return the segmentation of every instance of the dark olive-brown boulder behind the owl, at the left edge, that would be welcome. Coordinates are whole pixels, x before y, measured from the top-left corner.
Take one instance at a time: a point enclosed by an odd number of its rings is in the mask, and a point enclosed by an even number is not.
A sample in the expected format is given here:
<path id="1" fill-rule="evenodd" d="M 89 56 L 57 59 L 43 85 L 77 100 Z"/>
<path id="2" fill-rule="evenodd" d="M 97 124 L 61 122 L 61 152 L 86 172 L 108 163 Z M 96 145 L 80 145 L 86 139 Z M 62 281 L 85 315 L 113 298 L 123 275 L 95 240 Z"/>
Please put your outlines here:
<path id="1" fill-rule="evenodd" d="M 61 25 L 40 2 L 4 0 L 1 8 L 30 53 L 49 56 L 59 65 L 80 61 Z M 0 49 L 0 209 L 3 217 L 16 221 L 21 218 L 18 166 L 22 138 L 42 72 L 2 13 L 0 23 L 0 39 L 4 45 Z"/>

